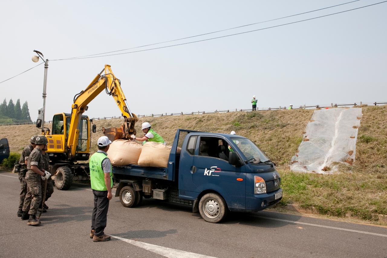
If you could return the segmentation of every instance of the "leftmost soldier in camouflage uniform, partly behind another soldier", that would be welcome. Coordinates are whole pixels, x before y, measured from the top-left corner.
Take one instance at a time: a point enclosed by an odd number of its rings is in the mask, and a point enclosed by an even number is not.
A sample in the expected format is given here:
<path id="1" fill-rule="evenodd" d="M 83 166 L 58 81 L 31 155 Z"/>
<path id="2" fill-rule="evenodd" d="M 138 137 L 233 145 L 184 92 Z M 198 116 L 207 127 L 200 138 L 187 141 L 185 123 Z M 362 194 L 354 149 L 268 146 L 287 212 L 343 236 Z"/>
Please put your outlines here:
<path id="1" fill-rule="evenodd" d="M 30 139 L 30 143 L 24 150 L 22 151 L 22 154 L 20 155 L 19 165 L 15 166 L 15 170 L 17 169 L 17 174 L 19 175 L 19 181 L 21 185 L 21 192 L 19 197 L 19 210 L 17 211 L 17 217 L 22 217 L 23 215 L 23 203 L 24 198 L 27 194 L 27 181 L 26 181 L 26 173 L 27 173 L 27 162 L 29 155 L 31 154 L 31 151 L 36 147 L 35 144 L 35 136 L 32 136 Z"/>

